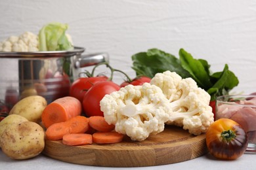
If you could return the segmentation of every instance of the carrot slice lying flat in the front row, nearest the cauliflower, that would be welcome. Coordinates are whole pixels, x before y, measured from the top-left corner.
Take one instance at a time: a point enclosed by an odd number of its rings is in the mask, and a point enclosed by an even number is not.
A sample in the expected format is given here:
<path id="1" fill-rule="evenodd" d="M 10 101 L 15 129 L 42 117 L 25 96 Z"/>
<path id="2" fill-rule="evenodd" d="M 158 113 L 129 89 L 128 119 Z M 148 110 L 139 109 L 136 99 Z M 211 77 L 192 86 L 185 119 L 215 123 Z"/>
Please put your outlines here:
<path id="1" fill-rule="evenodd" d="M 123 136 L 123 134 L 117 133 L 116 131 L 98 131 L 93 133 L 93 142 L 98 144 L 119 143 L 123 141 Z"/>

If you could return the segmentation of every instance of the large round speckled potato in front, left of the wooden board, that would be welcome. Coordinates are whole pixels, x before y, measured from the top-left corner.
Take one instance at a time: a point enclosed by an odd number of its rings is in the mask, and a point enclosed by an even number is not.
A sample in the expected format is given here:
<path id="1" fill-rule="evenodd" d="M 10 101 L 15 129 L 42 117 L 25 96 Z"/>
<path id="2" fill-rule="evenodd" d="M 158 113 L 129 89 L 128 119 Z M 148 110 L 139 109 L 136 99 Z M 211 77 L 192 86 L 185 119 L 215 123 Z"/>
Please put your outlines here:
<path id="1" fill-rule="evenodd" d="M 2 151 L 14 160 L 26 160 L 40 154 L 45 147 L 43 128 L 35 122 L 12 124 L 3 131 Z"/>

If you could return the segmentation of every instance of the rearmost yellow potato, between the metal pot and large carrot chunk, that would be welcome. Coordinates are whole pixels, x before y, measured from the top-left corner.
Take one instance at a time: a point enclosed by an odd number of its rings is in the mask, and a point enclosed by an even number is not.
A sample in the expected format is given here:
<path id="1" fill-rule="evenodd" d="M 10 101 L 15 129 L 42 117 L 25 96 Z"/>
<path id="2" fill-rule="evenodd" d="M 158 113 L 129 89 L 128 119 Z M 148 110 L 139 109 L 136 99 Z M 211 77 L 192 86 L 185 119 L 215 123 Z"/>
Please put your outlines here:
<path id="1" fill-rule="evenodd" d="M 24 116 L 28 121 L 39 123 L 41 122 L 41 115 L 47 101 L 40 95 L 32 95 L 21 99 L 12 107 L 9 114 L 18 114 Z"/>

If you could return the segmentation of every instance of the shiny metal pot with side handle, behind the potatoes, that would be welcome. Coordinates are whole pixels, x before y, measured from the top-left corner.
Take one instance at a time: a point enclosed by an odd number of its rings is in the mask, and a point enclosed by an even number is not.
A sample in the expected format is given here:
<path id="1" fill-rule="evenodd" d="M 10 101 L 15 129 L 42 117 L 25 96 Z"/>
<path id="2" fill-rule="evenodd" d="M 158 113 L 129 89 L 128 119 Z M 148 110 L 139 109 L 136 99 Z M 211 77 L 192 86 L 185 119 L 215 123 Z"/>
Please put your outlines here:
<path id="1" fill-rule="evenodd" d="M 81 68 L 108 61 L 106 53 L 83 54 L 85 48 L 54 52 L 0 52 L 0 99 L 11 108 L 29 95 L 51 103 L 68 95 Z"/>

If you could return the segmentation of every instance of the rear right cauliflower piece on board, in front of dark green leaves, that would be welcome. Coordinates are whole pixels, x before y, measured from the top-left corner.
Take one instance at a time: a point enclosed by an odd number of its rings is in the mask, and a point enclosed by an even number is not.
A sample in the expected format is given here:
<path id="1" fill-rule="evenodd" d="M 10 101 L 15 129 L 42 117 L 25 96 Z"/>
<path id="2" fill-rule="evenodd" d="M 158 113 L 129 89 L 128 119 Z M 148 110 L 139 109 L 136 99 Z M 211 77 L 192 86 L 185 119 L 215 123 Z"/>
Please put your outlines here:
<path id="1" fill-rule="evenodd" d="M 205 133 L 214 121 L 213 112 L 209 106 L 211 99 L 209 93 L 202 88 L 198 88 L 192 78 L 177 78 L 177 75 L 171 74 L 171 71 L 165 71 L 157 75 L 157 80 L 160 80 L 160 77 L 163 76 L 161 84 L 154 80 L 155 77 L 152 78 L 150 83 L 159 86 L 163 90 L 165 97 L 169 99 L 169 105 L 172 110 L 166 124 L 181 126 L 194 135 Z M 167 78 L 166 76 L 174 78 Z M 172 79 L 177 82 L 170 82 Z M 176 88 L 174 84 L 176 84 Z M 177 93 L 177 95 L 170 95 L 169 87 L 172 89 L 171 92 Z"/>

